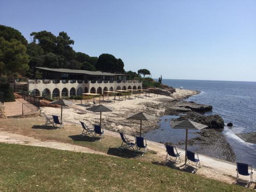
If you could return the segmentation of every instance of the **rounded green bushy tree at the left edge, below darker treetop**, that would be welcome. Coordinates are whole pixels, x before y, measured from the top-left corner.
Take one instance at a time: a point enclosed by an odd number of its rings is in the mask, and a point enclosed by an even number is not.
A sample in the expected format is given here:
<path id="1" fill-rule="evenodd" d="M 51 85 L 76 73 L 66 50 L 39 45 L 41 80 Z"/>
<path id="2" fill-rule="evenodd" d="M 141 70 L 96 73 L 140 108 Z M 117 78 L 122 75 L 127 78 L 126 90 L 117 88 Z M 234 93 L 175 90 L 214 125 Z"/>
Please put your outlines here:
<path id="1" fill-rule="evenodd" d="M 0 73 L 10 75 L 13 73 L 24 74 L 29 66 L 27 48 L 19 40 L 10 41 L 0 37 Z"/>

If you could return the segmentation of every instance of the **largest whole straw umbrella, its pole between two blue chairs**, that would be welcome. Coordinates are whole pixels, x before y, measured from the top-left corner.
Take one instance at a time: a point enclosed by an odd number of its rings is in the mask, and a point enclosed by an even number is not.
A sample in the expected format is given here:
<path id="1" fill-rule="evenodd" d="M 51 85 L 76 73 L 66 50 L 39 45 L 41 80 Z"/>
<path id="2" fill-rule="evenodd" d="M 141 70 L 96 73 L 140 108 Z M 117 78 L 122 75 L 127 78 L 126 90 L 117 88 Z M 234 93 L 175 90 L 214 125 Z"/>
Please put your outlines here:
<path id="1" fill-rule="evenodd" d="M 195 121 L 191 121 L 191 120 L 171 121 L 170 126 L 173 129 L 186 129 L 186 146 L 185 146 L 186 151 L 187 151 L 187 145 L 188 145 L 188 130 L 189 129 L 201 130 L 203 128 L 208 127 L 201 123 L 196 123 Z M 187 163 L 187 155 L 185 157 L 185 164 L 186 163 Z"/>

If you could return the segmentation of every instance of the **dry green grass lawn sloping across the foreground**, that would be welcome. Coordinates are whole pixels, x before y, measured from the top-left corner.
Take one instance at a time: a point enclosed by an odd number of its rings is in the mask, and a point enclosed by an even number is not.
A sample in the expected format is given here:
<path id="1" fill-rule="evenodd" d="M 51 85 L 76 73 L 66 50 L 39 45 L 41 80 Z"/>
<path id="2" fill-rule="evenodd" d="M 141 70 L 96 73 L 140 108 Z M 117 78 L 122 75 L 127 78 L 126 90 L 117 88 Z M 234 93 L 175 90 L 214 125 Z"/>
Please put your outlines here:
<path id="1" fill-rule="evenodd" d="M 248 190 L 139 160 L 13 144 L 0 152 L 0 191 Z"/>

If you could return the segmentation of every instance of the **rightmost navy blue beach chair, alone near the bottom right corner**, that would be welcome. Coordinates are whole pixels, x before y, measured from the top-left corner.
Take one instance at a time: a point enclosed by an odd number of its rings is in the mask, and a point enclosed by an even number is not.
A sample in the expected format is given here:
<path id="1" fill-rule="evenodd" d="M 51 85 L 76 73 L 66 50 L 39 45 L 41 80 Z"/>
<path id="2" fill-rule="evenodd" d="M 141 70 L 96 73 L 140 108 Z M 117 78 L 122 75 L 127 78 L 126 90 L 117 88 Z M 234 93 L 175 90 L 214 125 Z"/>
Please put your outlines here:
<path id="1" fill-rule="evenodd" d="M 250 168 L 250 172 L 249 172 L 249 168 Z M 236 182 L 237 181 L 245 182 L 245 183 L 247 183 L 247 187 L 248 187 L 252 183 L 253 171 L 254 170 L 252 169 L 252 165 L 236 162 Z M 249 179 L 249 181 L 240 179 L 239 175 L 249 176 L 250 179 Z"/>

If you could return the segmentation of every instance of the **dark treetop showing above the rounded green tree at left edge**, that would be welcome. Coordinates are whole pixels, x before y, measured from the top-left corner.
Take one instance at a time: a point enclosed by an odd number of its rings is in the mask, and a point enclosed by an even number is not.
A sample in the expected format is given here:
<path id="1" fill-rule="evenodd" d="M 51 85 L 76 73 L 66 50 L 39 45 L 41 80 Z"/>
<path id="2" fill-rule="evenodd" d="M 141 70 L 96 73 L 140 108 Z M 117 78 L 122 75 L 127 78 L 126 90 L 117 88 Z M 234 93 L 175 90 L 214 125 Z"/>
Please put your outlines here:
<path id="1" fill-rule="evenodd" d="M 19 40 L 23 45 L 27 45 L 26 38 L 16 29 L 10 26 L 0 25 L 0 37 L 10 41 L 11 39 Z"/>

